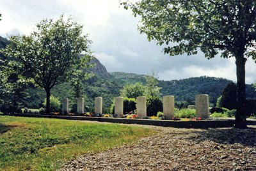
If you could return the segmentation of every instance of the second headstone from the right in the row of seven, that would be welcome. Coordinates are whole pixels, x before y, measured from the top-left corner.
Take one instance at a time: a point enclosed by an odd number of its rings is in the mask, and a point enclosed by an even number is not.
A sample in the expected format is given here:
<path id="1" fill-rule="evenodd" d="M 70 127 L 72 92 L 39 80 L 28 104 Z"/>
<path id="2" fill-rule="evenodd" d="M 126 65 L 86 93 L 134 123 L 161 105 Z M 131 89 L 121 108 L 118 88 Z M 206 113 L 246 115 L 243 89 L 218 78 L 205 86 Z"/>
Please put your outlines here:
<path id="1" fill-rule="evenodd" d="M 174 96 L 164 96 L 163 113 L 168 120 L 174 118 Z"/>

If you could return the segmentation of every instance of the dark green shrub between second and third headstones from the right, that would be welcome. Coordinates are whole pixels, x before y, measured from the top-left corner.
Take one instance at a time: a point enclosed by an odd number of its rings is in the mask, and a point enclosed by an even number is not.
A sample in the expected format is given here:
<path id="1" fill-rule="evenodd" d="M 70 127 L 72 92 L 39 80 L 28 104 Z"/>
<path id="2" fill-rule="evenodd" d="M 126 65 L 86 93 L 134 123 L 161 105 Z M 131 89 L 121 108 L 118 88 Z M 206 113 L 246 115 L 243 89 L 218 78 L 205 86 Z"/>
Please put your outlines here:
<path id="1" fill-rule="evenodd" d="M 163 112 L 163 102 L 159 98 L 148 98 L 147 115 L 157 115 L 157 112 Z"/>

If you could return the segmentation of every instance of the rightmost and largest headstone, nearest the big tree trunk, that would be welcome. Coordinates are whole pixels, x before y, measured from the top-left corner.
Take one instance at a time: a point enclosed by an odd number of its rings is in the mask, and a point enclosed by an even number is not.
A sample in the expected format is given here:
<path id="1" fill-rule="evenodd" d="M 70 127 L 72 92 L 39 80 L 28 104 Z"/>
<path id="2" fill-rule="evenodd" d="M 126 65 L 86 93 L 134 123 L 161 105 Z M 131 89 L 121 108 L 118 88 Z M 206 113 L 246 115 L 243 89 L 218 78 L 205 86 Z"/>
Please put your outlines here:
<path id="1" fill-rule="evenodd" d="M 196 118 L 209 119 L 209 96 L 198 94 L 195 96 Z"/>

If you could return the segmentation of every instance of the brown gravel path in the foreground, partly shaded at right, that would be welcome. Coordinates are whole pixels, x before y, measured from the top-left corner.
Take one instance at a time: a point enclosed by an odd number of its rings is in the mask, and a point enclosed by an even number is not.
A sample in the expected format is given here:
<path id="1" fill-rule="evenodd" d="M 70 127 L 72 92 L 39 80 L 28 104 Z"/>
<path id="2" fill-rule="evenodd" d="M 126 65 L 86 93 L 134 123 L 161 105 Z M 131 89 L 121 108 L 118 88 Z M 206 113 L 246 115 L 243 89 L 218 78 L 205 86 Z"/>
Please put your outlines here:
<path id="1" fill-rule="evenodd" d="M 256 170 L 256 126 L 157 131 L 134 145 L 89 153 L 61 170 Z"/>

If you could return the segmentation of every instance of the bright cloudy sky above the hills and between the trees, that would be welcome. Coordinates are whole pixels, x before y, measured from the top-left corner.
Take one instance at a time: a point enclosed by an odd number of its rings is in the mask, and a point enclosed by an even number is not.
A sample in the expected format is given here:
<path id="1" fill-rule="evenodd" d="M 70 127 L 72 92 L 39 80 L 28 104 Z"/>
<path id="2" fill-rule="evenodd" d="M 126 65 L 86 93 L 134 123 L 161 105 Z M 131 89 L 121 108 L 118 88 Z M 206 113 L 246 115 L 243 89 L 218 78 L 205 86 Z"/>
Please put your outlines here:
<path id="1" fill-rule="evenodd" d="M 138 18 L 119 5 L 118 0 L 8 0 L 1 1 L 0 36 L 29 34 L 42 19 L 57 19 L 61 14 L 71 16 L 89 34 L 92 50 L 107 70 L 147 74 L 157 71 L 161 80 L 189 77 L 223 77 L 236 81 L 234 59 L 206 59 L 196 56 L 170 57 L 163 47 L 148 42 L 137 29 Z M 256 81 L 256 64 L 246 63 L 246 83 Z"/>

